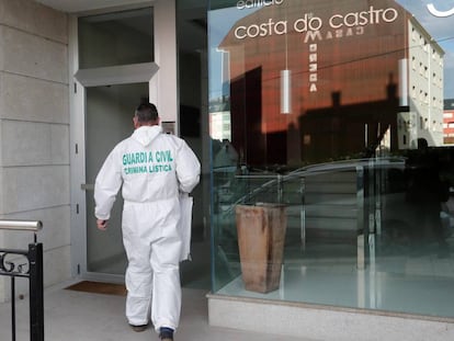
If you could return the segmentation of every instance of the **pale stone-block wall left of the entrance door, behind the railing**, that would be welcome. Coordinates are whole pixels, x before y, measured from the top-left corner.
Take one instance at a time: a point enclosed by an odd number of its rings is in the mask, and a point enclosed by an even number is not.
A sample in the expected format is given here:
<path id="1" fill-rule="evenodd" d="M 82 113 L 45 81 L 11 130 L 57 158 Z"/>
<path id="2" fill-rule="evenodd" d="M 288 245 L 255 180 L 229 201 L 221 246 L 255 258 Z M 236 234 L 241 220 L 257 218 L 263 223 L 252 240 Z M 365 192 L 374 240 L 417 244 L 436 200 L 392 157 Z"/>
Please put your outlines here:
<path id="1" fill-rule="evenodd" d="M 67 22 L 32 0 L 0 0 L 0 218 L 43 221 L 45 286 L 70 276 Z M 0 248 L 31 241 L 0 232 Z M 0 279 L 0 300 L 9 294 Z"/>

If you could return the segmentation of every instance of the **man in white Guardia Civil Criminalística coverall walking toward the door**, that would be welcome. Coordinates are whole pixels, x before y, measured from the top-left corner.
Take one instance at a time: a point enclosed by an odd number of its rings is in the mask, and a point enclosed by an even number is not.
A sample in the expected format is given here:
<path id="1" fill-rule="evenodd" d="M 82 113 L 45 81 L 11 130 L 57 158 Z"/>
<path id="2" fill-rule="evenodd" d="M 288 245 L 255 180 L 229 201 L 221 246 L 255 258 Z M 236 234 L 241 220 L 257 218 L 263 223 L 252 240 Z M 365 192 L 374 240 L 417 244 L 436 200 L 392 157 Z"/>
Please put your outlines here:
<path id="1" fill-rule="evenodd" d="M 143 331 L 151 309 L 160 339 L 170 341 L 181 310 L 179 192 L 197 185 L 201 166 L 183 139 L 162 133 L 154 104 L 140 104 L 133 122 L 133 135 L 115 146 L 97 177 L 94 214 L 98 228 L 105 230 L 123 185 L 126 318 Z"/>

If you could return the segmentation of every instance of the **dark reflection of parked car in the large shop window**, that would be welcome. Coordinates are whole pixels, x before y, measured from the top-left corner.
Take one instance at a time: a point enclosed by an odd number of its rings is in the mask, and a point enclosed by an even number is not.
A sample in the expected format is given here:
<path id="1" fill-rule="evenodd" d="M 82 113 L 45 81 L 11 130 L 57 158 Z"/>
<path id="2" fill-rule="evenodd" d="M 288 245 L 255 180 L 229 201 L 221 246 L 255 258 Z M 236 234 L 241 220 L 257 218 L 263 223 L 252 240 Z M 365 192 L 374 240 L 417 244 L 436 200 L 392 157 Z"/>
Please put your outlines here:
<path id="1" fill-rule="evenodd" d="M 223 245 L 227 238 L 235 246 L 236 205 L 268 202 L 287 205 L 287 245 L 347 243 L 355 251 L 359 236 L 365 236 L 365 248 L 372 236 L 379 254 L 446 257 L 454 201 L 443 164 L 433 169 L 428 161 L 417 162 L 420 154 L 319 163 L 284 174 L 230 168 L 229 182 L 214 193 L 224 198 L 215 209 L 224 221 L 217 224 L 217 240 Z M 435 149 L 425 154 L 440 157 Z M 214 177 L 217 183 L 216 171 Z"/>

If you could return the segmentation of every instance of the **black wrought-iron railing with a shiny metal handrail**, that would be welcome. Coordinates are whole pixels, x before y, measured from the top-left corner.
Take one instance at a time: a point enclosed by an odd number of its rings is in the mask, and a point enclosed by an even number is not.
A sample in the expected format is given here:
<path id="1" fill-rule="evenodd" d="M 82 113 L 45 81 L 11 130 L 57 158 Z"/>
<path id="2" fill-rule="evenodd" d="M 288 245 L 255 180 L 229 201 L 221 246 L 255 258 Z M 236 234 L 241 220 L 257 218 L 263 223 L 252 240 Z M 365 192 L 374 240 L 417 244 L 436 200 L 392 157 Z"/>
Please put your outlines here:
<path id="1" fill-rule="evenodd" d="M 0 220 L 0 230 L 33 231 L 27 250 L 0 249 L 0 275 L 11 277 L 11 336 L 15 341 L 15 279 L 29 279 L 30 341 L 44 341 L 43 245 L 36 242 L 41 221 Z"/>

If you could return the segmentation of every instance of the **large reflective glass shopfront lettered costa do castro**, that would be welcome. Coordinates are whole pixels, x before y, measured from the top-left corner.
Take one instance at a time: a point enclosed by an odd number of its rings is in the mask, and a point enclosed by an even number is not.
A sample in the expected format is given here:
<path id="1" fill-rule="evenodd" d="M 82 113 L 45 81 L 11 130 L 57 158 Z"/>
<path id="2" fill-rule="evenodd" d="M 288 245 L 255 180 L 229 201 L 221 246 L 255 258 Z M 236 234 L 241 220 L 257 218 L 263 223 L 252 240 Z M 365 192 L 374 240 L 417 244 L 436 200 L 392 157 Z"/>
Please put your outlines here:
<path id="1" fill-rule="evenodd" d="M 214 293 L 454 317 L 453 21 L 209 2 Z"/>

